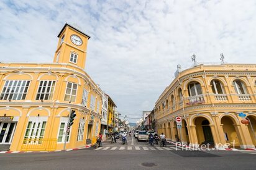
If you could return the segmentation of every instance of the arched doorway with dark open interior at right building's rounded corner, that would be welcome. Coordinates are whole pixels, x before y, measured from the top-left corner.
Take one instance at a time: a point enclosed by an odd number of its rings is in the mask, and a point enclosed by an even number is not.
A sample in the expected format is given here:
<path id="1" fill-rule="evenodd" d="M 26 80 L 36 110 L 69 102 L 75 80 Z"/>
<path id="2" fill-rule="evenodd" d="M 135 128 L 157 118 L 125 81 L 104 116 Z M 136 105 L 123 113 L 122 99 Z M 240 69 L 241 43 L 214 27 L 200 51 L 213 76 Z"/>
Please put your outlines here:
<path id="1" fill-rule="evenodd" d="M 198 137 L 198 144 L 212 145 L 214 146 L 213 134 L 209 121 L 205 117 L 196 117 L 194 125 L 196 125 L 196 136 Z"/>

